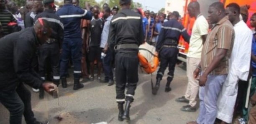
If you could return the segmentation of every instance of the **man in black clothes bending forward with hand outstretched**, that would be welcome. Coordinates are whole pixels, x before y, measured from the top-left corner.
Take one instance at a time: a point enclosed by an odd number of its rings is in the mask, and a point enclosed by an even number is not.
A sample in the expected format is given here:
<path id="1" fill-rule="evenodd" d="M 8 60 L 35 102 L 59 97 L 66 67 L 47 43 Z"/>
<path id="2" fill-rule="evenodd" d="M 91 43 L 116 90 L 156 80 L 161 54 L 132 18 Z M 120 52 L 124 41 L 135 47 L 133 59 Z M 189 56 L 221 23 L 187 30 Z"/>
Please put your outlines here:
<path id="1" fill-rule="evenodd" d="M 10 112 L 10 124 L 21 124 L 22 115 L 26 124 L 48 124 L 36 121 L 31 108 L 31 93 L 23 82 L 47 92 L 55 89 L 54 84 L 41 79 L 31 64 L 38 45 L 44 44 L 50 35 L 47 21 L 41 19 L 34 27 L 0 39 L 0 103 Z"/>

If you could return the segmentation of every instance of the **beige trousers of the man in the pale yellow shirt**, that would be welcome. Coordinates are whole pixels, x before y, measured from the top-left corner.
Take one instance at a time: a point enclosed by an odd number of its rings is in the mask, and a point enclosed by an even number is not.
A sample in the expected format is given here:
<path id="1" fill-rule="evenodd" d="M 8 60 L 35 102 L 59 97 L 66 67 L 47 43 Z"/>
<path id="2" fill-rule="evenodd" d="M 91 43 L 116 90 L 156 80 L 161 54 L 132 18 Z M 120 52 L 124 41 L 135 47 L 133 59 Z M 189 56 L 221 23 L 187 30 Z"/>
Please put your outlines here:
<path id="1" fill-rule="evenodd" d="M 198 80 L 194 77 L 194 71 L 197 69 L 198 64 L 200 63 L 200 58 L 187 57 L 187 90 L 185 93 L 185 98 L 189 99 L 189 105 L 195 107 L 197 104 L 196 98 L 199 90 Z"/>

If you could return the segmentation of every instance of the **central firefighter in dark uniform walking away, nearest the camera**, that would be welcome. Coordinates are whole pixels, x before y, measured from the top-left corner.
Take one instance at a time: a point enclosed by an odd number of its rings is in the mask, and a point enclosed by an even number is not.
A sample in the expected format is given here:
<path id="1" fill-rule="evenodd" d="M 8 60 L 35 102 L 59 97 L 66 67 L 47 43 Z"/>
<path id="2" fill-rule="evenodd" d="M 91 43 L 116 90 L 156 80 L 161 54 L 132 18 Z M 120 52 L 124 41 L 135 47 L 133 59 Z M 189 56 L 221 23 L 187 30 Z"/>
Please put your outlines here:
<path id="1" fill-rule="evenodd" d="M 122 10 L 110 23 L 108 44 L 115 48 L 116 101 L 118 120 L 130 120 L 129 109 L 138 82 L 138 46 L 143 42 L 142 17 L 130 10 L 131 0 L 120 0 Z M 128 83 L 125 95 L 125 84 Z M 125 103 L 125 111 L 123 104 Z"/>

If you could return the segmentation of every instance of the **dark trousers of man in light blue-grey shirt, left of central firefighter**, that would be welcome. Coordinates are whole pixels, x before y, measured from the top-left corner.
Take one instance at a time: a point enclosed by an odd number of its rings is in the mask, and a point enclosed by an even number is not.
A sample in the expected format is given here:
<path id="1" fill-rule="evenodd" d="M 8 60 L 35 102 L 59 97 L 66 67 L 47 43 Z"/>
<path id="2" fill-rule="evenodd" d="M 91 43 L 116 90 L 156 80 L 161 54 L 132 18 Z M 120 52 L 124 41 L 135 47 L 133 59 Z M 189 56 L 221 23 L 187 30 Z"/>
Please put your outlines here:
<path id="1" fill-rule="evenodd" d="M 105 73 L 105 80 L 113 80 L 113 72 L 112 72 L 112 59 L 113 59 L 113 52 L 111 50 L 107 50 L 106 56 L 103 58 L 103 67 Z"/>

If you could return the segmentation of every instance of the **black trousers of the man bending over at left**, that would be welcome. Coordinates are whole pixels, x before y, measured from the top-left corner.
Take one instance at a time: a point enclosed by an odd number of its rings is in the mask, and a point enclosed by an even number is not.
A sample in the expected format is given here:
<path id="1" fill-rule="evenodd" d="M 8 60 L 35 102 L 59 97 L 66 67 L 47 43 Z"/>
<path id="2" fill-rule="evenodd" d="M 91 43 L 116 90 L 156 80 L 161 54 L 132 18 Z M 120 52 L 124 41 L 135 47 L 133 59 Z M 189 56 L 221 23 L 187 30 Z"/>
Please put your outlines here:
<path id="1" fill-rule="evenodd" d="M 36 123 L 31 108 L 31 93 L 23 83 L 18 85 L 16 91 L 1 90 L 0 102 L 10 112 L 10 124 L 21 124 L 22 115 L 24 115 L 27 124 Z"/>

